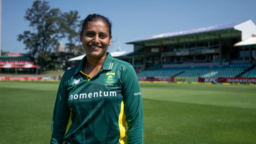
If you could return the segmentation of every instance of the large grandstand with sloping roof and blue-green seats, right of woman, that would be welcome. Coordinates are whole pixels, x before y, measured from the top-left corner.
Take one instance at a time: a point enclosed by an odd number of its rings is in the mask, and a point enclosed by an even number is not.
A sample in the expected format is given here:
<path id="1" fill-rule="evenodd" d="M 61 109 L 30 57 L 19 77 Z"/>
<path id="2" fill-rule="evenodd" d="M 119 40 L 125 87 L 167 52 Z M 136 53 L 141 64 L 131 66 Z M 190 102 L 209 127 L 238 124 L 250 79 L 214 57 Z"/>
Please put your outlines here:
<path id="1" fill-rule="evenodd" d="M 163 33 L 126 42 L 139 77 L 256 77 L 256 36 L 249 20 L 205 28 Z M 235 45 L 235 46 L 234 46 Z"/>

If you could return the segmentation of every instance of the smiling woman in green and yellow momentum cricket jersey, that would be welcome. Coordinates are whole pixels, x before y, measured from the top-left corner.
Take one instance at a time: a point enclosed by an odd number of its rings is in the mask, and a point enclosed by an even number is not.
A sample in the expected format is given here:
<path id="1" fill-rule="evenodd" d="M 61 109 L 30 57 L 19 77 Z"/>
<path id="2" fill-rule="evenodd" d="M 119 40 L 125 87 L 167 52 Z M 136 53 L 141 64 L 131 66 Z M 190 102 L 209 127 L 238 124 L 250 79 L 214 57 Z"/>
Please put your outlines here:
<path id="1" fill-rule="evenodd" d="M 81 63 L 61 79 L 51 143 L 143 143 L 143 108 L 133 67 L 107 52 L 111 23 L 99 14 L 83 21 Z"/>

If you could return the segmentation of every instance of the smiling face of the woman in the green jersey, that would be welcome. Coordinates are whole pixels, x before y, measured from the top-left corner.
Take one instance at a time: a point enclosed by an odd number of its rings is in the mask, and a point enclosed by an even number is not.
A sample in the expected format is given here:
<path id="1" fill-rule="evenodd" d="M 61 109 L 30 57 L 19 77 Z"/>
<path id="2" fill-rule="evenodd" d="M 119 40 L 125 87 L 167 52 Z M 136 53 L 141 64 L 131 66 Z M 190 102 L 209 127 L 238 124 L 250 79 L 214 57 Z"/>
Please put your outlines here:
<path id="1" fill-rule="evenodd" d="M 111 44 L 112 36 L 106 24 L 102 21 L 91 21 L 87 23 L 84 32 L 80 32 L 80 41 L 86 55 L 102 58 L 108 46 Z"/>

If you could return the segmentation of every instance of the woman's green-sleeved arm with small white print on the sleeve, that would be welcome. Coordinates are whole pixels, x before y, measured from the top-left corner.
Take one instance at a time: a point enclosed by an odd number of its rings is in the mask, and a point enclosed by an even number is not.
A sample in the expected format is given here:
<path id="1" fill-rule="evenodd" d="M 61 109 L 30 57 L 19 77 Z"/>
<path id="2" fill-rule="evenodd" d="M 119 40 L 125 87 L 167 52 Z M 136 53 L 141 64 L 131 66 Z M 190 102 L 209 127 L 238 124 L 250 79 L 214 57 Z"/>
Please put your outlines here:
<path id="1" fill-rule="evenodd" d="M 132 67 L 128 65 L 122 74 L 125 120 L 128 124 L 127 142 L 130 144 L 143 143 L 143 106 L 138 78 Z"/>

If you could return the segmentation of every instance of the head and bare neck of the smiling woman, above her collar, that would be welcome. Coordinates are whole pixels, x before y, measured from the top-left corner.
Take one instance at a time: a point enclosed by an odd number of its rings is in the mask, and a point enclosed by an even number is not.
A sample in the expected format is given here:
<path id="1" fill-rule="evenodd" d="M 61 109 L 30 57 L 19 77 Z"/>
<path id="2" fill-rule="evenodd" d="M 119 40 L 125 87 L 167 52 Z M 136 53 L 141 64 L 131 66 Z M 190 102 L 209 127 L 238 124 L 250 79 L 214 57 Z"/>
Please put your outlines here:
<path id="1" fill-rule="evenodd" d="M 80 41 L 86 52 L 87 63 L 85 74 L 93 77 L 100 71 L 106 52 L 112 40 L 111 22 L 99 14 L 90 14 L 86 17 L 80 32 Z"/>

